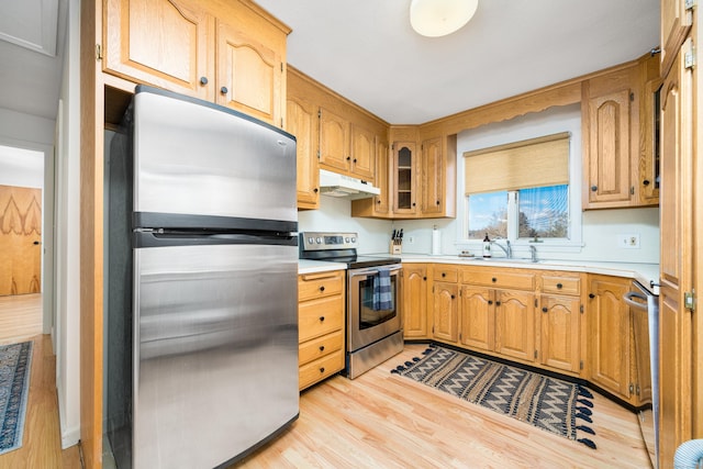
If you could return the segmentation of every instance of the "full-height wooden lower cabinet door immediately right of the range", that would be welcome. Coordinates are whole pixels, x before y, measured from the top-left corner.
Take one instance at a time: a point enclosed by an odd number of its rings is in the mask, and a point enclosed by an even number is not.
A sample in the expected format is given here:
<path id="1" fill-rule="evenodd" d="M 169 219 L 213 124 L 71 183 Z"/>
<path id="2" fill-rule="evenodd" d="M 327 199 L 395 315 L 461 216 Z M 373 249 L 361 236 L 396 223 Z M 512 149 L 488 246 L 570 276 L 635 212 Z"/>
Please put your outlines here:
<path id="1" fill-rule="evenodd" d="M 427 337 L 427 266 L 403 265 L 403 334 Z"/>

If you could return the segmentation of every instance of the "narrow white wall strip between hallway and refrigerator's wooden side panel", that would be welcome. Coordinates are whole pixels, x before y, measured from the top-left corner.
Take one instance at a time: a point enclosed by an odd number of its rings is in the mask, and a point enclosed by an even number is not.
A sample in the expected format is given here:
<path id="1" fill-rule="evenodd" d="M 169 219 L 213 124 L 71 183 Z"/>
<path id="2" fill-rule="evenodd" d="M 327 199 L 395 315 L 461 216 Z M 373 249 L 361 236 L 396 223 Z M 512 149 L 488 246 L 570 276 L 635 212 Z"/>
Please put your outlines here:
<path id="1" fill-rule="evenodd" d="M 80 438 L 79 1 L 69 0 L 56 126 L 56 389 L 62 447 Z"/>

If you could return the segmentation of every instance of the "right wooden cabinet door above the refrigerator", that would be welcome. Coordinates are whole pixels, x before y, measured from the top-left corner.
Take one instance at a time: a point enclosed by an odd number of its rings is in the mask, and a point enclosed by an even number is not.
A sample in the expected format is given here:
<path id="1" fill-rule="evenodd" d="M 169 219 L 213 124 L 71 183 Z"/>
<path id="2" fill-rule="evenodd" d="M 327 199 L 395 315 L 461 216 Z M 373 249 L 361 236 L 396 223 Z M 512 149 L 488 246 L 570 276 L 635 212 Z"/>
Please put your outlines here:
<path id="1" fill-rule="evenodd" d="M 283 126 L 283 56 L 261 42 L 271 33 L 257 25 L 238 26 L 217 22 L 216 102 L 253 115 L 271 125 Z M 282 35 L 283 41 L 286 35 Z M 284 44 L 284 42 L 283 42 Z"/>

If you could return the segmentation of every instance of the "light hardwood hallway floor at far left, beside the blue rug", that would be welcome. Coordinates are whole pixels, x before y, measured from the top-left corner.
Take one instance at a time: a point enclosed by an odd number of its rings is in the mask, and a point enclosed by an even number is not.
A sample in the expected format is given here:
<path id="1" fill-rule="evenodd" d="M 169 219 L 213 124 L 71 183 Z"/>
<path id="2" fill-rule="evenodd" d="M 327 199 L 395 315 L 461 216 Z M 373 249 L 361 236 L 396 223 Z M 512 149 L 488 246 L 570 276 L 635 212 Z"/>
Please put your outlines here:
<path id="1" fill-rule="evenodd" d="M 0 297 L 0 344 L 32 340 L 30 394 L 22 447 L 0 456 L 0 469 L 79 469 L 78 446 L 62 450 L 56 357 L 42 335 L 42 295 Z"/>

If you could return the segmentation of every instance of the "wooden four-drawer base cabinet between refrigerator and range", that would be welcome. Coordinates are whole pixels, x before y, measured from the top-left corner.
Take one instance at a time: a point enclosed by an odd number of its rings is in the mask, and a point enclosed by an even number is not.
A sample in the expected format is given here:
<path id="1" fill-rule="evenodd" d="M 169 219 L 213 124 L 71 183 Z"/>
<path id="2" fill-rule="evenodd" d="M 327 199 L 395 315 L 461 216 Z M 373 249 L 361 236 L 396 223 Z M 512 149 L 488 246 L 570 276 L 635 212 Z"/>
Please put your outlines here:
<path id="1" fill-rule="evenodd" d="M 344 369 L 344 270 L 298 276 L 299 387 Z"/>

